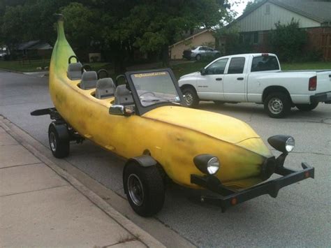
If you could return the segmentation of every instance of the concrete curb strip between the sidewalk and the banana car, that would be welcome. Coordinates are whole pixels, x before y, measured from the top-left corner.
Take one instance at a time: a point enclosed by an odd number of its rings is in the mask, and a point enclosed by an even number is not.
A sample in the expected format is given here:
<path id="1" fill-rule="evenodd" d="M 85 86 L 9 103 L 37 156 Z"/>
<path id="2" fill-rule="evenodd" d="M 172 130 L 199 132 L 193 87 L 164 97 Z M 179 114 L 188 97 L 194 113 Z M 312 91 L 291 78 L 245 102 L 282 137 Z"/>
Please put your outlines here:
<path id="1" fill-rule="evenodd" d="M 15 138 L 15 140 L 17 140 L 20 145 L 28 149 L 29 152 L 31 152 L 32 154 L 34 154 L 34 156 L 43 161 L 43 163 L 45 163 L 52 170 L 54 170 L 55 173 L 57 173 L 66 181 L 68 181 L 71 185 L 73 185 L 75 189 L 80 191 L 81 194 L 91 200 L 92 203 L 94 203 L 97 207 L 103 210 L 103 212 L 108 214 L 108 216 L 114 219 L 119 225 L 123 226 L 123 228 L 125 228 L 129 233 L 138 238 L 138 240 L 147 245 L 147 247 L 165 247 L 161 244 L 161 242 L 152 237 L 152 235 L 149 235 L 149 233 L 142 230 L 142 228 L 140 228 L 129 219 L 126 219 L 126 217 L 124 217 L 122 214 L 117 212 L 117 210 L 115 210 L 112 206 L 106 203 L 105 200 L 103 200 L 100 196 L 96 195 L 93 191 L 87 189 L 87 187 L 85 187 L 81 182 L 76 180 L 75 177 L 66 173 L 66 171 L 57 166 L 57 164 L 50 161 L 50 159 L 48 159 L 45 155 L 41 154 L 41 152 L 38 152 L 35 147 L 29 144 L 29 139 L 31 139 L 32 137 L 29 136 L 28 133 L 22 131 L 22 129 L 20 129 L 19 127 L 15 126 L 15 124 L 10 122 L 8 119 L 4 118 L 2 115 L 0 115 L 0 126 L 7 133 L 9 133 L 10 136 L 13 136 L 13 138 Z"/>

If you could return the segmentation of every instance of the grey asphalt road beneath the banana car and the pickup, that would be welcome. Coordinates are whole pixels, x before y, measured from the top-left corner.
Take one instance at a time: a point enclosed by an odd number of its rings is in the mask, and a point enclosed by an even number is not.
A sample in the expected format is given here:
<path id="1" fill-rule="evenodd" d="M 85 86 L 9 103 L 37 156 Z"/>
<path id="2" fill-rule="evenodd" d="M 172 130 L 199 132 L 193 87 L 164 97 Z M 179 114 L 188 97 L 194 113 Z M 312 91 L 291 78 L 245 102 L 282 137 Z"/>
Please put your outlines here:
<path id="1" fill-rule="evenodd" d="M 10 119 L 48 146 L 47 116 L 31 117 L 38 108 L 52 107 L 47 78 L 0 71 L 0 115 Z M 196 192 L 170 185 L 156 219 L 200 247 L 329 247 L 331 244 L 331 105 L 312 112 L 293 108 L 286 119 L 271 119 L 262 105 L 242 103 L 200 108 L 247 122 L 267 143 L 275 134 L 295 137 L 296 147 L 286 166 L 300 169 L 302 161 L 316 168 L 315 180 L 304 180 L 279 191 L 277 198 L 260 196 L 226 213 L 199 203 Z M 278 154 L 274 151 L 274 154 Z M 123 161 L 86 142 L 72 145 L 66 159 L 106 187 L 123 195 Z"/>

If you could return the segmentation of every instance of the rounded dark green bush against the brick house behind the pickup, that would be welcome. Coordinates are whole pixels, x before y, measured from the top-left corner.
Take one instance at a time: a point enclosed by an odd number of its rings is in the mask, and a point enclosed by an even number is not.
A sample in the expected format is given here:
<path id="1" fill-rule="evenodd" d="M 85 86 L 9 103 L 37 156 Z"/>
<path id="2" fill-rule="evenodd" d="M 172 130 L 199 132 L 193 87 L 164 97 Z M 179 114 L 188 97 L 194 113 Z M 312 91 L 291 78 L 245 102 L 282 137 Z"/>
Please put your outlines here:
<path id="1" fill-rule="evenodd" d="M 281 61 L 299 59 L 307 43 L 307 32 L 300 29 L 299 22 L 293 19 L 288 24 L 277 22 L 275 27 L 270 34 L 272 52 L 276 53 Z"/>

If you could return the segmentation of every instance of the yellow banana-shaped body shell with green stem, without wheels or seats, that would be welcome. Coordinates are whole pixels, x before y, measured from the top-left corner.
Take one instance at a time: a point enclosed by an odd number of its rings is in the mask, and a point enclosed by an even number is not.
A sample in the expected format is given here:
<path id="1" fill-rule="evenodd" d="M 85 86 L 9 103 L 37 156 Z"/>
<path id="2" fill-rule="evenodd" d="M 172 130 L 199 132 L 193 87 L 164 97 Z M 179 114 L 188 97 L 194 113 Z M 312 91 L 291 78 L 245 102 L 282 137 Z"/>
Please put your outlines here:
<path id="1" fill-rule="evenodd" d="M 263 140 L 246 123 L 213 112 L 163 106 L 142 116 L 110 115 L 114 98 L 96 99 L 95 89 L 78 87 L 66 76 L 74 55 L 58 22 L 58 38 L 50 63 L 50 95 L 61 116 L 84 138 L 125 158 L 148 149 L 178 184 L 196 188 L 190 175 L 201 175 L 193 163 L 198 154 L 221 161 L 217 177 L 228 187 L 251 187 L 261 182 L 260 166 L 272 156 Z"/>

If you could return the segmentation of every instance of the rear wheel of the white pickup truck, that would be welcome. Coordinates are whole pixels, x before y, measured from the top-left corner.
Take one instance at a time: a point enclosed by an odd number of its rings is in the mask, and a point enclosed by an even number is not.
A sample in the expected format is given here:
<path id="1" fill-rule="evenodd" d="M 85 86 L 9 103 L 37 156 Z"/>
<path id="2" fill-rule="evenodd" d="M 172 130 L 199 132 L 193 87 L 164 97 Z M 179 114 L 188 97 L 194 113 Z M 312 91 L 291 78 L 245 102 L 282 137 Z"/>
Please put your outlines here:
<path id="1" fill-rule="evenodd" d="M 271 93 L 264 101 L 267 114 L 272 118 L 281 118 L 290 112 L 290 99 L 283 92 Z"/>

